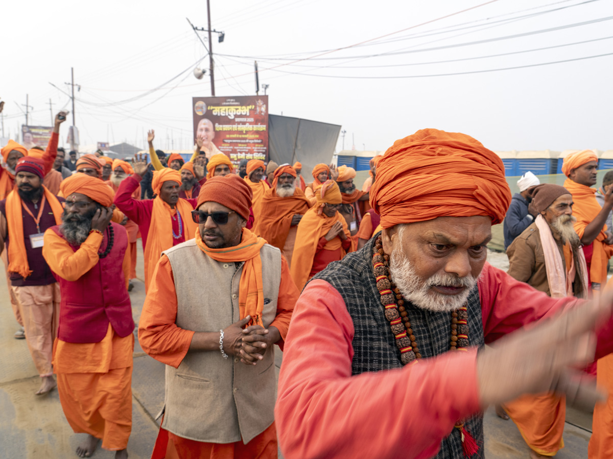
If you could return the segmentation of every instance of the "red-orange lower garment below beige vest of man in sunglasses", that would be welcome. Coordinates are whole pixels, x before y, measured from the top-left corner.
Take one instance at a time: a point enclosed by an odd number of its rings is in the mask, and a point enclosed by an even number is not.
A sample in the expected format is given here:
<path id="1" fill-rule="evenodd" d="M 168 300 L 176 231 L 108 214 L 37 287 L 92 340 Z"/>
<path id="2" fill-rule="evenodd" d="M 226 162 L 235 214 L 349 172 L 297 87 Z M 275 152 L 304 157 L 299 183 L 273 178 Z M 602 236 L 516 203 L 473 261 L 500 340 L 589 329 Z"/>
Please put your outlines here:
<path id="1" fill-rule="evenodd" d="M 189 440 L 160 428 L 151 459 L 276 459 L 277 450 L 274 422 L 247 444 Z"/>

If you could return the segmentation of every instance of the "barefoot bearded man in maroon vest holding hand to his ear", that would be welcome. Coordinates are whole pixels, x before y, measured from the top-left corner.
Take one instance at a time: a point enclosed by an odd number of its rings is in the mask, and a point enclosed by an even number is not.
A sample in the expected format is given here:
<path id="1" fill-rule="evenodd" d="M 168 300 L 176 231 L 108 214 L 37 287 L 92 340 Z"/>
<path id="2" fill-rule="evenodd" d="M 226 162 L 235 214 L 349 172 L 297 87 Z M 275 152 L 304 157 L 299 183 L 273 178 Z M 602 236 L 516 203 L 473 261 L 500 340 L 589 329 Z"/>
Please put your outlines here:
<path id="1" fill-rule="evenodd" d="M 113 192 L 104 182 L 74 174 L 61 192 L 63 223 L 45 231 L 42 249 L 61 290 L 53 345 L 59 401 L 72 430 L 88 434 L 78 456 L 91 456 L 102 440 L 116 459 L 127 458 L 134 351 L 128 234 L 110 221 Z"/>

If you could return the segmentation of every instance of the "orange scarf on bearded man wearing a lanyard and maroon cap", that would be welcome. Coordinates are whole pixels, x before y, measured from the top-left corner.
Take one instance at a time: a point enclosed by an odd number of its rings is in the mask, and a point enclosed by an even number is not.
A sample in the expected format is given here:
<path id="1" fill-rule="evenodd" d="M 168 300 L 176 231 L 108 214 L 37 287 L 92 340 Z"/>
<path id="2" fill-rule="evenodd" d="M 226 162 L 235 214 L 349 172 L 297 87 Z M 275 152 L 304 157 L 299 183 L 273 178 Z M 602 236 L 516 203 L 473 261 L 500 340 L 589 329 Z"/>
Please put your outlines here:
<path id="1" fill-rule="evenodd" d="M 43 185 L 45 200 L 51 206 L 56 225 L 62 223 L 62 213 L 64 209 L 56 198 Z M 17 272 L 21 277 L 26 278 L 32 274 L 28 265 L 28 255 L 26 254 L 26 244 L 23 237 L 23 206 L 19 193 L 9 193 L 6 198 L 6 221 L 9 230 L 9 272 Z M 35 215 L 36 216 L 36 215 Z"/>

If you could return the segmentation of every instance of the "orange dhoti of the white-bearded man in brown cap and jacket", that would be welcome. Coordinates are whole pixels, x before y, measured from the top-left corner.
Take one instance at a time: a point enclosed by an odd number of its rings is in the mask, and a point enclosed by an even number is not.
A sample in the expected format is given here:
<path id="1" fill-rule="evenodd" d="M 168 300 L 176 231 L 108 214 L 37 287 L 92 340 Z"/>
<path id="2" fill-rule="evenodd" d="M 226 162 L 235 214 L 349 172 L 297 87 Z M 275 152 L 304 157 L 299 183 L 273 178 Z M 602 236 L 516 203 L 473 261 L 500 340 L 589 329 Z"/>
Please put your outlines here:
<path id="1" fill-rule="evenodd" d="M 530 449 L 554 456 L 564 447 L 566 397 L 555 394 L 524 395 L 504 405 Z"/>

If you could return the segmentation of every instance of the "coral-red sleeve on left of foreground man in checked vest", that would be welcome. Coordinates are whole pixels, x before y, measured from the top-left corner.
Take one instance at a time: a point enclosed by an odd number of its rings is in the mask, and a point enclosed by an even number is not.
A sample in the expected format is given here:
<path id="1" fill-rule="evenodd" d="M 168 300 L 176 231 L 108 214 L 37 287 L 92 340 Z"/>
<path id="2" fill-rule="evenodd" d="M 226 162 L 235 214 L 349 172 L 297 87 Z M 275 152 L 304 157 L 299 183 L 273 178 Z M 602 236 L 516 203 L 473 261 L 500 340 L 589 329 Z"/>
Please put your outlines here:
<path id="1" fill-rule="evenodd" d="M 275 407 L 287 459 L 433 457 L 455 422 L 479 410 L 476 349 L 351 376 L 353 336 L 338 291 L 309 283 L 287 334 Z"/>

